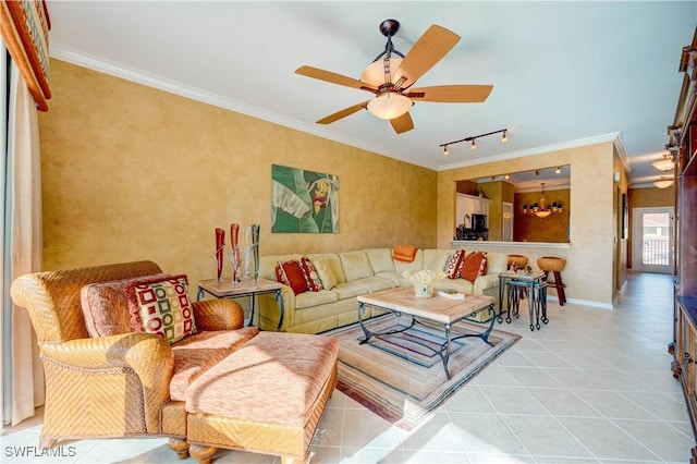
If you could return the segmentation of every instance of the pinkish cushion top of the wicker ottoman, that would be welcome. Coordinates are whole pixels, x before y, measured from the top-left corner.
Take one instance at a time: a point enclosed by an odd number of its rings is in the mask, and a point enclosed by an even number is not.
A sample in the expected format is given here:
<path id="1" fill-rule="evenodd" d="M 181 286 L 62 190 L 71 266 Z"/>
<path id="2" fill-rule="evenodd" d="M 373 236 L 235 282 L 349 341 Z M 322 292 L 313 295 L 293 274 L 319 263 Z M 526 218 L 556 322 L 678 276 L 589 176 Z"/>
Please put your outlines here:
<path id="1" fill-rule="evenodd" d="M 186 411 L 305 427 L 332 378 L 339 347 L 329 337 L 259 332 L 186 390 Z"/>

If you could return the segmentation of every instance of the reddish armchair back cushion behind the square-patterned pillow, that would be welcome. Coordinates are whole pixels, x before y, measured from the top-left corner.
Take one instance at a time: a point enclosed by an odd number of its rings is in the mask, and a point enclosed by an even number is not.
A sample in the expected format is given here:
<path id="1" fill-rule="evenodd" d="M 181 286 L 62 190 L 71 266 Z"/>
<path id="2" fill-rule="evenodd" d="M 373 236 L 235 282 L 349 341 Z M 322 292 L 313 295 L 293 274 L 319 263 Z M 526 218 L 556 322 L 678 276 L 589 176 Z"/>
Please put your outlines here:
<path id="1" fill-rule="evenodd" d="M 90 337 L 109 337 L 121 333 L 143 332 L 140 316 L 132 317 L 126 298 L 126 286 L 135 281 L 158 282 L 169 277 L 158 273 L 147 278 L 90 283 L 81 290 L 85 326 Z"/>

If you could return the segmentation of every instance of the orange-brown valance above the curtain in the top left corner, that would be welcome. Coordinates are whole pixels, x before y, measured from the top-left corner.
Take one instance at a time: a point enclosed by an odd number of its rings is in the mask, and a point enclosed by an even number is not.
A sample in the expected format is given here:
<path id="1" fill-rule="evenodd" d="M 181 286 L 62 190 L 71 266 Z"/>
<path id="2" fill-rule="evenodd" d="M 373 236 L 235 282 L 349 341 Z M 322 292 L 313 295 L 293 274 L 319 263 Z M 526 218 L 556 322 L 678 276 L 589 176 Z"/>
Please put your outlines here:
<path id="1" fill-rule="evenodd" d="M 48 111 L 48 32 L 45 0 L 0 0 L 0 36 L 41 111 Z"/>

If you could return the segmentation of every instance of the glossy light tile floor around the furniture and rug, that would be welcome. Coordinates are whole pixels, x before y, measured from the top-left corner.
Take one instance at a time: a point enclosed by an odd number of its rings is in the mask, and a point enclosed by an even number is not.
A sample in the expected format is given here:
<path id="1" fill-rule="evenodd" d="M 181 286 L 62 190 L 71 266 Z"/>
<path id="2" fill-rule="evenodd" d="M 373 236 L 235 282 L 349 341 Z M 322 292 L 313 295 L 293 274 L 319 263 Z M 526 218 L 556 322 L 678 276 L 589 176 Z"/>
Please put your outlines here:
<path id="1" fill-rule="evenodd" d="M 671 295 L 670 276 L 629 273 L 613 310 L 550 301 L 539 331 L 524 318 L 497 325 L 523 339 L 411 432 L 337 391 L 313 463 L 686 463 L 695 439 L 667 353 Z M 4 429 L 0 462 L 181 462 L 164 439 L 75 441 L 59 455 L 17 455 L 33 451 L 39 430 L 40 416 Z M 213 462 L 279 461 L 221 451 Z"/>

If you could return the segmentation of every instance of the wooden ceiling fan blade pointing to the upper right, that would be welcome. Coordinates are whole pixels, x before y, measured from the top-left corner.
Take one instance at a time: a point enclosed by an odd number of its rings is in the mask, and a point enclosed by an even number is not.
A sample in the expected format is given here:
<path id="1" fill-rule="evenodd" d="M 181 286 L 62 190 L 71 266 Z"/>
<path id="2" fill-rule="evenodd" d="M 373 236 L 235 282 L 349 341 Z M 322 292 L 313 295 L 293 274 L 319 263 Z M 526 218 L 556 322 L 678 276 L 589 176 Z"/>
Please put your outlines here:
<path id="1" fill-rule="evenodd" d="M 408 88 L 458 41 L 457 34 L 433 24 L 416 40 L 400 68 L 392 74 L 395 80 L 393 84 L 400 89 Z"/>

